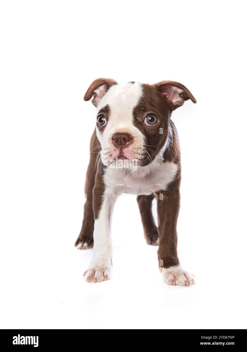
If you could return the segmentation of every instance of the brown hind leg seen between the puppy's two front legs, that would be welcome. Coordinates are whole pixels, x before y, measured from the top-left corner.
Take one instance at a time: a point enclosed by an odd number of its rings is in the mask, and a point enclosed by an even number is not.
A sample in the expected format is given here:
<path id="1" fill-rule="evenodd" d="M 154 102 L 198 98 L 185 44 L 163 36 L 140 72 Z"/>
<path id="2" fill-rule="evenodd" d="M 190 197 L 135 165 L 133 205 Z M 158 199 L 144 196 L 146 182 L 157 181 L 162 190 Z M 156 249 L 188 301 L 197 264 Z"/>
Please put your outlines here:
<path id="1" fill-rule="evenodd" d="M 154 217 L 152 213 L 152 201 L 154 195 L 149 196 L 138 196 L 137 203 L 140 209 L 142 225 L 144 230 L 144 238 L 147 244 L 157 246 L 159 244 L 158 228 L 155 225 Z"/>

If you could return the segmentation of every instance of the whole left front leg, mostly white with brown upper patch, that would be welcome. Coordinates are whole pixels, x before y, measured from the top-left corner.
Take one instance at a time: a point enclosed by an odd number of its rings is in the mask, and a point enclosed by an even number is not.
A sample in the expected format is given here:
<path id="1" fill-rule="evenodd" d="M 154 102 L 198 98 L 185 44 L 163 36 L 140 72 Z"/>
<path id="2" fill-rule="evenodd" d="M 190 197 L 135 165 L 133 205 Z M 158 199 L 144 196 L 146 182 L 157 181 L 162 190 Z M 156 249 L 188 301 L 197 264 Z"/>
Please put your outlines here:
<path id="1" fill-rule="evenodd" d="M 89 269 L 85 271 L 87 282 L 100 282 L 111 278 L 112 243 L 110 220 L 116 195 L 107 192 L 103 175 L 98 172 L 93 189 L 93 258 Z"/>

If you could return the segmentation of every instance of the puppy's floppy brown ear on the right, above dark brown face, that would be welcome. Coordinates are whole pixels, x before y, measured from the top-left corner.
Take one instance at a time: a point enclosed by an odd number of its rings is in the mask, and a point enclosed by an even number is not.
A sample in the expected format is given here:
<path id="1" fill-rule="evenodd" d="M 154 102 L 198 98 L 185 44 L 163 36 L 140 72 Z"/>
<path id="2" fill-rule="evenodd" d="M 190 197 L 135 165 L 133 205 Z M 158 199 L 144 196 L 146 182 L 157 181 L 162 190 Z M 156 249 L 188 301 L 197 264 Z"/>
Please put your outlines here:
<path id="1" fill-rule="evenodd" d="M 190 93 L 183 84 L 173 81 L 162 81 L 155 83 L 154 86 L 158 89 L 161 95 L 165 96 L 166 99 L 172 103 L 174 109 L 183 105 L 185 100 L 192 100 L 196 103 L 196 99 Z"/>

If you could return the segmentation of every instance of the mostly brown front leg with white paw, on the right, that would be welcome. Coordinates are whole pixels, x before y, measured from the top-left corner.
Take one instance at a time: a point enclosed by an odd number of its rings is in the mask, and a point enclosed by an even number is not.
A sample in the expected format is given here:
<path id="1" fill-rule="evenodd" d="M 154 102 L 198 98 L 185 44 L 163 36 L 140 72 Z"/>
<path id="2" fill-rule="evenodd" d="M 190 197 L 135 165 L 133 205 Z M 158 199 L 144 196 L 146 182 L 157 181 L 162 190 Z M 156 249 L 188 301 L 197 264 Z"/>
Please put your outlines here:
<path id="1" fill-rule="evenodd" d="M 180 182 L 174 181 L 168 190 L 160 190 L 157 196 L 159 268 L 168 285 L 189 286 L 194 277 L 181 269 L 177 254 L 177 220 L 180 208 Z"/>

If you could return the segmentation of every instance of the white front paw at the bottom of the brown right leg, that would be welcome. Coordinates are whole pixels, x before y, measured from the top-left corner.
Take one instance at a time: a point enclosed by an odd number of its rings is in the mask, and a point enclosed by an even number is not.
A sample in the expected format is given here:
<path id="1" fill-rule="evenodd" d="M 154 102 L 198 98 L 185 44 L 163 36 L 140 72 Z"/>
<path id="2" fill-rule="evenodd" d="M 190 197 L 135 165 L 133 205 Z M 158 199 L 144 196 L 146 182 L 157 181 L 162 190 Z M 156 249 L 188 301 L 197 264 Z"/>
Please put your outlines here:
<path id="1" fill-rule="evenodd" d="M 162 268 L 162 276 L 167 285 L 189 286 L 195 284 L 194 275 L 184 271 L 180 266 L 171 266 Z"/>

